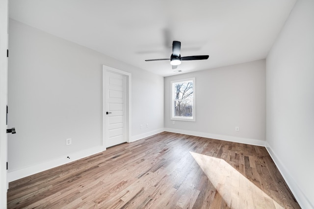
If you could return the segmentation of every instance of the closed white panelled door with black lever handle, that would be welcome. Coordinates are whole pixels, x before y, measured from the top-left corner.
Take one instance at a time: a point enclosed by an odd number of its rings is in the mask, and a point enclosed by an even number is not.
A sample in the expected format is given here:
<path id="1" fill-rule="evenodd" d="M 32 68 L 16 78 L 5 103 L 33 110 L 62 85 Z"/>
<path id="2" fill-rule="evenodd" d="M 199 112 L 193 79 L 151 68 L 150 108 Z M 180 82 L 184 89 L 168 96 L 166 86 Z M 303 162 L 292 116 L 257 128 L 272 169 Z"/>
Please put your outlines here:
<path id="1" fill-rule="evenodd" d="M 103 112 L 105 147 L 128 142 L 128 80 L 120 70 L 104 67 Z M 114 71 L 113 71 L 114 70 Z"/>

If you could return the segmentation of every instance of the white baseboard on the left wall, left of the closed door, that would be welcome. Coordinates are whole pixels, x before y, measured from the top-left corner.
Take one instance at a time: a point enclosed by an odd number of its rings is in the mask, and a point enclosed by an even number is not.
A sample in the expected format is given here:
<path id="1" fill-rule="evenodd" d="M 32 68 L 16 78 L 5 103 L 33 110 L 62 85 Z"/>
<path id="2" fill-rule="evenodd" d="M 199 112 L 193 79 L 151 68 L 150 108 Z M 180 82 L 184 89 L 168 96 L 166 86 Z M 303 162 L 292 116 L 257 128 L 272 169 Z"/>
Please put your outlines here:
<path id="1" fill-rule="evenodd" d="M 19 170 L 10 171 L 7 173 L 7 181 L 13 182 L 15 180 L 22 179 L 26 176 L 30 176 L 30 175 L 33 175 L 33 174 L 36 174 L 36 173 L 39 173 L 39 172 L 63 165 L 63 164 L 66 164 L 66 163 L 71 163 L 73 161 L 77 161 L 79 159 L 100 153 L 103 150 L 104 150 L 103 146 L 93 147 L 90 149 L 72 153 L 70 155 L 62 156 L 58 159 L 55 159 L 49 162 L 40 163 L 37 165 L 25 167 Z M 70 159 L 67 157 L 70 157 Z"/>

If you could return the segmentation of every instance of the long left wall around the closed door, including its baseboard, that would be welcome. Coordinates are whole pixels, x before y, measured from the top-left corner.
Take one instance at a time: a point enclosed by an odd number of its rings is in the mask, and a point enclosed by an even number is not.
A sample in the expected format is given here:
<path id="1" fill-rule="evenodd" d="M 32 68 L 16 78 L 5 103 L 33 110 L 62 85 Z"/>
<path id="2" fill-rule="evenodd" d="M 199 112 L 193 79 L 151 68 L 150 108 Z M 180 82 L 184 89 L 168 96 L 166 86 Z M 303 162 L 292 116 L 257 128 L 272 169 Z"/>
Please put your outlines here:
<path id="1" fill-rule="evenodd" d="M 9 181 L 100 151 L 103 64 L 132 73 L 131 140 L 163 130 L 163 77 L 14 20 L 9 50 Z"/>

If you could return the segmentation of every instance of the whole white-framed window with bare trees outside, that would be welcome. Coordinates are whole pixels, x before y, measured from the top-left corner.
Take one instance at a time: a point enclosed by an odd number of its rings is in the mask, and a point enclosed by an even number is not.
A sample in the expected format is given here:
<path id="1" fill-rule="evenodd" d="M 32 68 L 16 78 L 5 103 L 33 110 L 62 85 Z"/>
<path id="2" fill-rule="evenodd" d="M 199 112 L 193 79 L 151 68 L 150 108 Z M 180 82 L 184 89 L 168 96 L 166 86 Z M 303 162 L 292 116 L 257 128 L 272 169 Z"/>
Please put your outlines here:
<path id="1" fill-rule="evenodd" d="M 195 78 L 171 81 L 171 119 L 195 121 Z"/>

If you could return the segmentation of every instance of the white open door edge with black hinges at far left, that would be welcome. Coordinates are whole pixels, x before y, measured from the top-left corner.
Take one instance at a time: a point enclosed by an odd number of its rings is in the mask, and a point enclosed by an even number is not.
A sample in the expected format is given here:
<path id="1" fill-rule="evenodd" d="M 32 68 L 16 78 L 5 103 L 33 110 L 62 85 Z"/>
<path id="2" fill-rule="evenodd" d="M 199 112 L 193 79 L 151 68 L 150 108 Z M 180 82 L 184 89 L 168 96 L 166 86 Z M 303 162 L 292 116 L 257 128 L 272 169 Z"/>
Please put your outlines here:
<path id="1" fill-rule="evenodd" d="M 6 208 L 8 0 L 0 1 L 0 208 Z"/>

